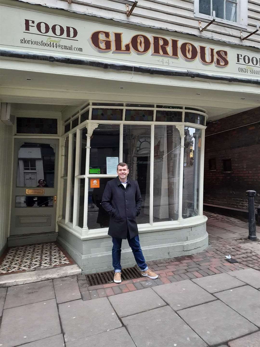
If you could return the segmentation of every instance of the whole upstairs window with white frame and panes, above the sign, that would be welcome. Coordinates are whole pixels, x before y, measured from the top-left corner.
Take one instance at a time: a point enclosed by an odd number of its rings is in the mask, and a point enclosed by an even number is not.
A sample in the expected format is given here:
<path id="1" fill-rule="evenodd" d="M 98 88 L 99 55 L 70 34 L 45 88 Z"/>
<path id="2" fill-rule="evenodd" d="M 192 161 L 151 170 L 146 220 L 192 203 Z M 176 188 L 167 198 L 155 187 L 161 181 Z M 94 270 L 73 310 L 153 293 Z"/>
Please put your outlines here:
<path id="1" fill-rule="evenodd" d="M 194 16 L 212 19 L 216 13 L 216 22 L 235 26 L 247 24 L 246 0 L 194 0 Z"/>

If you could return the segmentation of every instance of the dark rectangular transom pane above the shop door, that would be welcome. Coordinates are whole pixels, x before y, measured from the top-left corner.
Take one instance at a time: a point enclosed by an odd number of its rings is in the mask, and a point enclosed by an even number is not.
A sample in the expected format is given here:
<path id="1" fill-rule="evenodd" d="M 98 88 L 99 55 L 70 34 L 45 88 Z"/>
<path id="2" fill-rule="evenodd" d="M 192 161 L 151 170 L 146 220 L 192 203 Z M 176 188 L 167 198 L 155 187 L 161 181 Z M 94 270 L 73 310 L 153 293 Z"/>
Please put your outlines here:
<path id="1" fill-rule="evenodd" d="M 58 134 L 57 119 L 53 118 L 16 118 L 17 134 Z"/>

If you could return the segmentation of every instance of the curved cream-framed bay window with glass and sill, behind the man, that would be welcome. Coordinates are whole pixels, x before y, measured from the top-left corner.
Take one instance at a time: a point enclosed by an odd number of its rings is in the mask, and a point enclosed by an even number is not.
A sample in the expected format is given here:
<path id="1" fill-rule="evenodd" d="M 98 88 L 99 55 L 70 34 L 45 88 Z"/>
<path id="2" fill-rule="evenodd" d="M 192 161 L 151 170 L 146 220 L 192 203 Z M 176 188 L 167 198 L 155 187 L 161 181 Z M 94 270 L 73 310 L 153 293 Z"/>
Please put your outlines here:
<path id="1" fill-rule="evenodd" d="M 64 122 L 64 132 L 71 126 L 63 135 L 60 222 L 80 235 L 107 231 L 102 195 L 119 162 L 138 181 L 139 226 L 199 215 L 205 121 L 205 111 L 175 105 L 90 102 L 79 109 Z"/>

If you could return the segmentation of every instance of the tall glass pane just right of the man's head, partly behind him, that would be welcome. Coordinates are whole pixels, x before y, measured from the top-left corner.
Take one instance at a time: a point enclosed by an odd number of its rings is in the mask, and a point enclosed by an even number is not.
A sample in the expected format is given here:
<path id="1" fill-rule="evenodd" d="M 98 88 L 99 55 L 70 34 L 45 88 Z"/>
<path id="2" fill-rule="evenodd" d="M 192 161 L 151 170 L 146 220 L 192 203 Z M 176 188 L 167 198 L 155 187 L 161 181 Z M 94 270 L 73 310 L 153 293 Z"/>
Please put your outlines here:
<path id="1" fill-rule="evenodd" d="M 129 176 L 138 182 L 142 207 L 136 218 L 138 224 L 149 223 L 151 127 L 124 125 L 123 162 L 128 164 Z"/>

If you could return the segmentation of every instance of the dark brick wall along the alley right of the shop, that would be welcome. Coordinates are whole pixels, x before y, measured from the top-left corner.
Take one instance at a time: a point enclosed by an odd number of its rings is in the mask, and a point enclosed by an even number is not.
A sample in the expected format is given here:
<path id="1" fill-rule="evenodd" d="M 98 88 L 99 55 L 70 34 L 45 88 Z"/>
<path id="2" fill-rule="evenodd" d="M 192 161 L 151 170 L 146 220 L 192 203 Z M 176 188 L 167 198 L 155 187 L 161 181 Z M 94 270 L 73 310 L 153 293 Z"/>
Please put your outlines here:
<path id="1" fill-rule="evenodd" d="M 254 122 L 258 123 L 251 124 Z M 214 158 L 216 170 L 210 171 L 209 159 Z M 231 159 L 231 172 L 224 172 L 225 159 Z M 260 204 L 260 107 L 209 123 L 206 129 L 203 202 L 246 210 L 249 189 L 257 191 L 257 207 Z"/>

